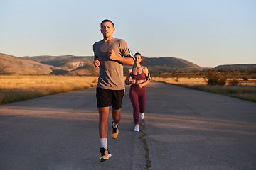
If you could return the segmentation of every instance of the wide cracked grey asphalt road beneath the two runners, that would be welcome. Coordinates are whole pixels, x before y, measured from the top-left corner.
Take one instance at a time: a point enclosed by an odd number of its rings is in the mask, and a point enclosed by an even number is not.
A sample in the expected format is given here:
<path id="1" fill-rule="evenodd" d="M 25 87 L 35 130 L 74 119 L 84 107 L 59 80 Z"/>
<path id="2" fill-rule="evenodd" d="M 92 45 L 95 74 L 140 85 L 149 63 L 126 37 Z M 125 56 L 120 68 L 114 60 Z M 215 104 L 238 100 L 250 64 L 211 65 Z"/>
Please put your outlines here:
<path id="1" fill-rule="evenodd" d="M 95 88 L 1 105 L 0 169 L 145 169 L 128 93 L 101 163 Z M 256 103 L 151 81 L 144 126 L 151 169 L 256 169 Z"/>

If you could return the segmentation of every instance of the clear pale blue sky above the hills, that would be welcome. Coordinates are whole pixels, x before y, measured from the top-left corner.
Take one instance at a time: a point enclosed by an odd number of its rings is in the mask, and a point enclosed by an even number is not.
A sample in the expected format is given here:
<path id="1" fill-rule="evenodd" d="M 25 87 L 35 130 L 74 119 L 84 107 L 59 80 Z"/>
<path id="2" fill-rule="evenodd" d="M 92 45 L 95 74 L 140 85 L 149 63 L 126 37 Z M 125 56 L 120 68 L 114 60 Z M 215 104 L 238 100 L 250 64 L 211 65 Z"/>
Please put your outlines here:
<path id="1" fill-rule="evenodd" d="M 255 0 L 0 0 L 0 52 L 92 56 L 105 18 L 146 57 L 256 64 Z"/>

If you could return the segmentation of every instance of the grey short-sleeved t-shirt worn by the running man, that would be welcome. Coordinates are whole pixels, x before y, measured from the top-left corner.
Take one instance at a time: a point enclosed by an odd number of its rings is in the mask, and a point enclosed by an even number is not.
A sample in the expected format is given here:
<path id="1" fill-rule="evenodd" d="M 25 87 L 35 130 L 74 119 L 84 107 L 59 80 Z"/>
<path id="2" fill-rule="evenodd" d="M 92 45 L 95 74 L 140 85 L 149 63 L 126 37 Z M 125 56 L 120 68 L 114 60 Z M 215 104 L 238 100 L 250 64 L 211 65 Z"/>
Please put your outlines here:
<path id="1" fill-rule="evenodd" d="M 115 54 L 119 57 L 129 55 L 127 42 L 122 39 L 112 38 L 104 42 L 100 40 L 93 45 L 95 59 L 100 60 L 100 77 L 97 87 L 110 90 L 124 89 L 123 64 L 107 57 L 113 48 Z"/>

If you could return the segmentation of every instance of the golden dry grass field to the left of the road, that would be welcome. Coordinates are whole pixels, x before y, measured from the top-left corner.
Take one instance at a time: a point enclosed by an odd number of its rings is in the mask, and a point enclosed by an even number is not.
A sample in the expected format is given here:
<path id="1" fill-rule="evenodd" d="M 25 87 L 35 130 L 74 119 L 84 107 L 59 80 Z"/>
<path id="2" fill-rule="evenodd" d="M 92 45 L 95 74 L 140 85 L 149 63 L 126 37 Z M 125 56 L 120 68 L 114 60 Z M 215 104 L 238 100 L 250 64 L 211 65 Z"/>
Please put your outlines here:
<path id="1" fill-rule="evenodd" d="M 0 104 L 60 94 L 97 85 L 97 77 L 0 76 Z"/>

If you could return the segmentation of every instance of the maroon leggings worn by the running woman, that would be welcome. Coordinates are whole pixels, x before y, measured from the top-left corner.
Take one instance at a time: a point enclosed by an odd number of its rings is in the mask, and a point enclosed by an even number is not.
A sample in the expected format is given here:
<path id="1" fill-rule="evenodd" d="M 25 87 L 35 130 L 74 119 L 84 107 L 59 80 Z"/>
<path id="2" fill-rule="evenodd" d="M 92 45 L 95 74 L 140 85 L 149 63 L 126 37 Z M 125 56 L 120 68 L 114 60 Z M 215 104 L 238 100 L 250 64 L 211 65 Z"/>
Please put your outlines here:
<path id="1" fill-rule="evenodd" d="M 129 90 L 129 98 L 134 108 L 134 123 L 139 124 L 139 112 L 144 113 L 146 108 L 146 86 L 139 88 L 138 85 L 132 84 Z"/>

